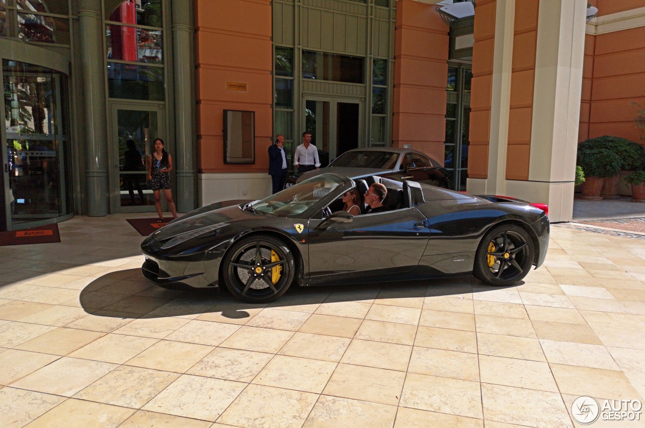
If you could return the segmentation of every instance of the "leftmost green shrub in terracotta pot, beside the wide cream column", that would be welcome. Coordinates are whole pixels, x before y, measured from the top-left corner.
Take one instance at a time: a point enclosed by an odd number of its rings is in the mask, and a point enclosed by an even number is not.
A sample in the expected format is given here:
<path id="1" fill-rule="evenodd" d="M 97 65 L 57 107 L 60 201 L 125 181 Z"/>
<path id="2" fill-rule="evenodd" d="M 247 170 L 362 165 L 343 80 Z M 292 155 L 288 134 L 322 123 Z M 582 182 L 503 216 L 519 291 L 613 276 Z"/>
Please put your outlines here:
<path id="1" fill-rule="evenodd" d="M 581 198 L 599 201 L 604 179 L 618 175 L 621 161 L 617 154 L 606 148 L 584 148 L 578 150 L 577 163 L 584 171 Z"/>

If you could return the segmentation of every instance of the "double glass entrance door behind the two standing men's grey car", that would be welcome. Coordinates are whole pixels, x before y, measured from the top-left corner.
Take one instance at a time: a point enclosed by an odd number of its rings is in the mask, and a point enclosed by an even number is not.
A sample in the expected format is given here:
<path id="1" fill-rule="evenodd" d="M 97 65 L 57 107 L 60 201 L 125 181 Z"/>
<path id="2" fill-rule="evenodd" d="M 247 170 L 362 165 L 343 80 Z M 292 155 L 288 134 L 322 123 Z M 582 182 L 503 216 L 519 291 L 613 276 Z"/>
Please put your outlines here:
<path id="1" fill-rule="evenodd" d="M 352 99 L 306 97 L 304 127 L 313 132 L 312 144 L 322 150 L 321 165 L 359 147 L 361 102 Z"/>

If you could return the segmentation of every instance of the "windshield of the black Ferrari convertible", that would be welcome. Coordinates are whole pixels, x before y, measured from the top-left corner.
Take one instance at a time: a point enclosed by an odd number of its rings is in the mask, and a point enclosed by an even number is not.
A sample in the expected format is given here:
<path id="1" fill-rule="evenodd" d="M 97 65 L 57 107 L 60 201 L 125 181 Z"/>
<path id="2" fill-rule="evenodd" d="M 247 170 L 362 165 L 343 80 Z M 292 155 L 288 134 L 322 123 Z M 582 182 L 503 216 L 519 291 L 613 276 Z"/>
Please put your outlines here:
<path id="1" fill-rule="evenodd" d="M 344 181 L 341 178 L 332 174 L 322 174 L 287 187 L 261 201 L 255 201 L 245 209 L 273 217 L 297 216 L 317 205 L 321 199 L 342 185 Z"/>

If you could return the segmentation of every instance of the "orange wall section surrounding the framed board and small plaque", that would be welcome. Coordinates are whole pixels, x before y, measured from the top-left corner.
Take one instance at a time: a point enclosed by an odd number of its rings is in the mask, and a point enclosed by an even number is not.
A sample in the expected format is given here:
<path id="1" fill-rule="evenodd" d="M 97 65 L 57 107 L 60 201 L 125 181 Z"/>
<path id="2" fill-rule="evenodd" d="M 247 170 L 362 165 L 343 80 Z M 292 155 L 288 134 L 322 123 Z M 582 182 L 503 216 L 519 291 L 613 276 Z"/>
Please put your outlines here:
<path id="1" fill-rule="evenodd" d="M 263 172 L 272 141 L 270 0 L 195 0 L 195 85 L 200 172 Z M 246 92 L 226 82 L 246 83 Z M 223 110 L 255 112 L 255 164 L 224 165 Z"/>

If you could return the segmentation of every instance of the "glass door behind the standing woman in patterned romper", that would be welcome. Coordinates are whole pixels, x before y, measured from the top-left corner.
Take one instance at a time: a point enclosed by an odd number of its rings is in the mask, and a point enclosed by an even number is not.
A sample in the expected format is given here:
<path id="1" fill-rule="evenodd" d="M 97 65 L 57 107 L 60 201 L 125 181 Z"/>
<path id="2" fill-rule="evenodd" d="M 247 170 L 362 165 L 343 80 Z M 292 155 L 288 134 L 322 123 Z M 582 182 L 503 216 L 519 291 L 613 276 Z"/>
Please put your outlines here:
<path id="1" fill-rule="evenodd" d="M 164 138 L 163 109 L 155 106 L 112 104 L 112 204 L 113 212 L 154 212 L 155 199 L 148 189 L 145 158 L 156 138 Z M 163 198 L 162 198 L 163 200 Z"/>

